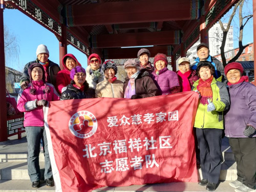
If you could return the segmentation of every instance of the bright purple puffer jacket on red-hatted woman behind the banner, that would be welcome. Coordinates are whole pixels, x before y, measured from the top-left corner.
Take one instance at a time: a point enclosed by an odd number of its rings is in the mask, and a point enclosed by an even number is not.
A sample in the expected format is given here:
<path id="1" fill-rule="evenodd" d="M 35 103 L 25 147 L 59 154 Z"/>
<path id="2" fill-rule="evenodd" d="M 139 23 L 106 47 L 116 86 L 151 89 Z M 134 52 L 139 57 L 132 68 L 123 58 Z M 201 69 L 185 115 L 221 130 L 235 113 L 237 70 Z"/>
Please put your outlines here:
<path id="1" fill-rule="evenodd" d="M 166 67 L 159 71 L 159 75 L 156 74 L 156 70 L 152 72 L 152 75 L 162 95 L 172 94 L 172 88 L 180 88 L 178 75 Z"/>

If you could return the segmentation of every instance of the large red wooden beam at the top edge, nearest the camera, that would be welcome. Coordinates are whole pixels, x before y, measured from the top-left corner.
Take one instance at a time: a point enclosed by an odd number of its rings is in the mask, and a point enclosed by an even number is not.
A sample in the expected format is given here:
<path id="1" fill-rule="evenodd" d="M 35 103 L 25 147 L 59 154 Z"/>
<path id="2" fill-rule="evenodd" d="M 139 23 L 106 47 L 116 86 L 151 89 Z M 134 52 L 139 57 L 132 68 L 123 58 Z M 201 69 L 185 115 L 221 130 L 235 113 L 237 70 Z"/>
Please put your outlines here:
<path id="1" fill-rule="evenodd" d="M 66 6 L 69 26 L 197 19 L 199 0 L 147 0 Z"/>

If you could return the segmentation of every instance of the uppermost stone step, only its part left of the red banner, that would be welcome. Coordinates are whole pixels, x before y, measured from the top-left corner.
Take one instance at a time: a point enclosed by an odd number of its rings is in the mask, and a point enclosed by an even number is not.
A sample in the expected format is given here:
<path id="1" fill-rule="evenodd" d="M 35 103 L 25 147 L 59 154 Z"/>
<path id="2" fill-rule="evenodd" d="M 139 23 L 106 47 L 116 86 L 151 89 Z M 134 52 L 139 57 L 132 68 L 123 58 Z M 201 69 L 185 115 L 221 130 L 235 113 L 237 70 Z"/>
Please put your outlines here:
<path id="1" fill-rule="evenodd" d="M 0 153 L 0 162 L 27 162 L 28 152 L 23 153 Z M 44 162 L 44 153 L 39 154 L 39 161 Z"/>

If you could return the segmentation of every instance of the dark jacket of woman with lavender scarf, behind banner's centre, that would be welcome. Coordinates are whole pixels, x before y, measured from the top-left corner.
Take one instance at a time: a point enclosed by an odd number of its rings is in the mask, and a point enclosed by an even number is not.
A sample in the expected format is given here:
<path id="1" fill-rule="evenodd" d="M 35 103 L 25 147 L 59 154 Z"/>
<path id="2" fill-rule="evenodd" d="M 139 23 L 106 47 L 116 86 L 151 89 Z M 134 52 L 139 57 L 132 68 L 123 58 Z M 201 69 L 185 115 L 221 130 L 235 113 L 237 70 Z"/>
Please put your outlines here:
<path id="1" fill-rule="evenodd" d="M 129 80 L 130 79 L 128 77 L 125 78 L 125 82 L 123 84 L 124 92 Z M 140 74 L 135 79 L 135 89 L 136 95 L 139 95 L 141 98 L 154 97 L 160 94 L 155 82 L 150 77 L 150 73 L 148 73 L 146 69 L 141 69 Z"/>

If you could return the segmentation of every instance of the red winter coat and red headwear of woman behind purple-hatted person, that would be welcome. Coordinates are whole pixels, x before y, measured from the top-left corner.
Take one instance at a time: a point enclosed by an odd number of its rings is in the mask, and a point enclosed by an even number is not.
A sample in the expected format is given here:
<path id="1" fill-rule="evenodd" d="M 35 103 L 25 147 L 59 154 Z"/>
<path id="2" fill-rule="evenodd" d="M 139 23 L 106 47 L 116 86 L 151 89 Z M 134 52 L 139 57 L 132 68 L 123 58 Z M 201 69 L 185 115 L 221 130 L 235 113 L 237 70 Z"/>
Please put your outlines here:
<path id="1" fill-rule="evenodd" d="M 67 68 L 66 63 L 64 63 L 65 57 L 71 57 L 73 58 L 76 63 L 81 66 L 81 64 L 78 62 L 76 57 L 73 54 L 66 54 L 62 58 L 62 66 L 63 70 L 59 71 L 57 74 L 57 79 L 56 79 L 56 89 L 59 94 L 61 94 L 62 88 L 66 87 L 68 84 L 70 84 L 71 78 L 70 78 L 70 70 Z"/>

